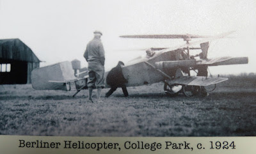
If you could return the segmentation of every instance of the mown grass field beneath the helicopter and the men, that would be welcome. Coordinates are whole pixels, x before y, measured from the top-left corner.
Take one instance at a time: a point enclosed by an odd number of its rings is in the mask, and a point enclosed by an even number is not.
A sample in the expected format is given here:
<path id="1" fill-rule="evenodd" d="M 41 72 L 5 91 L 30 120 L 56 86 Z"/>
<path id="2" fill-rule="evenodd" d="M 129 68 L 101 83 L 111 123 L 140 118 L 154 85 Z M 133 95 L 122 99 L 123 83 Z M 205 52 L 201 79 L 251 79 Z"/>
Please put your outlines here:
<path id="1" fill-rule="evenodd" d="M 72 98 L 74 91 L 1 85 L 0 134 L 256 136 L 255 75 L 229 76 L 205 98 L 166 96 L 163 83 L 127 89 L 128 98 L 119 88 L 90 104 L 87 90 Z"/>

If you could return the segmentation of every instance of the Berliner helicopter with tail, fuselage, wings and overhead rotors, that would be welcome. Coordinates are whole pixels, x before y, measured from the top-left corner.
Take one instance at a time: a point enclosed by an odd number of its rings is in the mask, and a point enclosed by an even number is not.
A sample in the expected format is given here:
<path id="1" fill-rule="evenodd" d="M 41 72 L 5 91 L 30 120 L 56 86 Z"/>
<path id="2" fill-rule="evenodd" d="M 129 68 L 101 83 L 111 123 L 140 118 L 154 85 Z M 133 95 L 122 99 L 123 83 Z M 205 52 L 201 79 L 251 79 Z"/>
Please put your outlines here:
<path id="1" fill-rule="evenodd" d="M 125 86 L 143 86 L 164 82 L 164 91 L 170 96 L 184 93 L 185 96 L 209 95 L 209 91 L 216 88 L 216 84 L 227 81 L 226 77 L 208 77 L 209 66 L 247 64 L 248 57 L 220 57 L 207 58 L 209 42 L 225 38 L 232 32 L 216 36 L 200 35 L 123 35 L 120 38 L 144 39 L 183 39 L 186 43 L 172 48 L 150 48 L 146 54 L 132 59 L 122 66 L 122 73 L 127 80 Z M 191 41 L 194 38 L 201 40 Z M 198 47 L 195 47 L 195 46 Z M 193 50 L 200 50 L 200 54 L 191 55 Z M 55 68 L 54 68 L 55 67 Z M 50 69 L 52 68 L 52 70 Z M 36 68 L 32 72 L 31 80 L 34 89 L 76 90 L 76 96 L 81 89 L 87 89 L 88 75 L 77 79 L 72 72 L 71 63 L 63 62 L 44 68 Z M 195 72 L 196 75 L 191 75 Z M 53 75 L 57 73 L 60 75 Z M 106 72 L 106 76 L 108 72 Z M 106 82 L 105 82 L 106 83 Z M 109 85 L 106 84 L 106 88 Z"/>

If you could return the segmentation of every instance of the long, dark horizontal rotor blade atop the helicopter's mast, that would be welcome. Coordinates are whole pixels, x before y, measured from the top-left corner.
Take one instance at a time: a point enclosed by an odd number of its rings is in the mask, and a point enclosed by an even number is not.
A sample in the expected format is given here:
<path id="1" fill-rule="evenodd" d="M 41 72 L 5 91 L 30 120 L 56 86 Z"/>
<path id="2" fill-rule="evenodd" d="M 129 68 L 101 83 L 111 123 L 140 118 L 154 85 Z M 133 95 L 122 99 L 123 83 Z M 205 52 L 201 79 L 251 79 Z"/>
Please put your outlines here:
<path id="1" fill-rule="evenodd" d="M 208 38 L 211 36 L 201 36 L 201 35 L 122 35 L 121 38 Z"/>

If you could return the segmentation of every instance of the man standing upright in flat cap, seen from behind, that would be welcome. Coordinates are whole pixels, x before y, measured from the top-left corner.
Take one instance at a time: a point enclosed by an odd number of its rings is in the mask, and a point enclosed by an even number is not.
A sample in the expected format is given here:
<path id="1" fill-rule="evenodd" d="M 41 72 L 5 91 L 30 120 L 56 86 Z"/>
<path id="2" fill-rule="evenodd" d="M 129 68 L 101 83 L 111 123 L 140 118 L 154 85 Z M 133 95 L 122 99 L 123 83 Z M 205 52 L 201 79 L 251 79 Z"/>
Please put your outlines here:
<path id="1" fill-rule="evenodd" d="M 102 102 L 102 100 L 100 100 L 101 89 L 105 86 L 105 51 L 100 40 L 100 36 L 102 36 L 102 33 L 100 31 L 95 31 L 93 40 L 87 44 L 86 50 L 84 52 L 84 58 L 88 62 L 89 102 L 92 103 L 93 88 L 97 89 L 97 102 Z"/>

